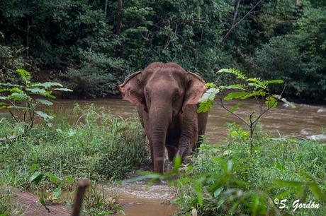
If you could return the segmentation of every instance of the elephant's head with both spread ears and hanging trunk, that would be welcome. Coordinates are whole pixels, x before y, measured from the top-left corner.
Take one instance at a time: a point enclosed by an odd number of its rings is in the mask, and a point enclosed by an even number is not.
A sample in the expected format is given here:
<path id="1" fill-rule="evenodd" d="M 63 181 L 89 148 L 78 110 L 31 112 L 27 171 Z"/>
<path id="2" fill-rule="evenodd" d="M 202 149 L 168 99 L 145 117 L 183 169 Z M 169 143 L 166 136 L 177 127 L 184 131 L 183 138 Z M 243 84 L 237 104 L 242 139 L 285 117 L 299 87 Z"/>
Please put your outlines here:
<path id="1" fill-rule="evenodd" d="M 186 104 L 197 104 L 203 92 L 206 91 L 204 81 L 195 73 L 184 71 L 174 63 L 154 63 L 144 71 L 138 71 L 128 76 L 120 85 L 124 100 L 142 107 L 149 114 L 154 148 L 164 152 L 167 128 Z M 159 155 L 162 152 L 159 152 Z M 157 155 L 158 156 L 158 155 Z"/>

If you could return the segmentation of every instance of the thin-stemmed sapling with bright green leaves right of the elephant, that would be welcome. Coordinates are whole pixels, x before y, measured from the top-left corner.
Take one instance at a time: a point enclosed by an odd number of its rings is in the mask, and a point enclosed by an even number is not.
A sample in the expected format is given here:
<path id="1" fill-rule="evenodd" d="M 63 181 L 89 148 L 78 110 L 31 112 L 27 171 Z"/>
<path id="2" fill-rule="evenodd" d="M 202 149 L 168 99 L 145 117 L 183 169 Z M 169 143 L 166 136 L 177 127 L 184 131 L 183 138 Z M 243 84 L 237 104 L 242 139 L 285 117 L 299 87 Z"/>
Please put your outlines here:
<path id="1" fill-rule="evenodd" d="M 213 83 L 206 84 L 208 86 L 208 91 L 206 91 L 203 96 L 198 100 L 199 107 L 198 112 L 208 112 L 210 107 L 213 106 L 215 102 L 215 97 L 218 95 L 220 97 L 220 105 L 228 113 L 237 116 L 245 125 L 249 128 L 249 143 L 250 143 L 250 152 L 253 149 L 253 136 L 255 128 L 259 122 L 259 119 L 262 118 L 264 114 L 269 112 L 270 109 L 277 106 L 277 101 L 281 100 L 287 107 L 294 108 L 294 104 L 288 102 L 281 95 L 271 94 L 269 90 L 270 84 L 279 84 L 283 83 L 283 80 L 262 80 L 262 78 L 248 78 L 240 70 L 235 68 L 229 69 L 220 69 L 218 73 L 230 73 L 232 76 L 236 76 L 240 84 L 232 85 L 215 85 Z M 231 91 L 236 90 L 236 91 Z M 230 92 L 231 91 L 231 92 Z M 223 97 L 223 93 L 227 92 L 227 95 Z M 253 111 L 247 113 L 246 119 L 244 119 L 239 114 L 236 114 L 235 111 L 241 107 L 240 104 L 236 104 L 233 107 L 227 108 L 224 101 L 227 100 L 246 100 L 252 99 L 257 101 L 257 108 Z"/>

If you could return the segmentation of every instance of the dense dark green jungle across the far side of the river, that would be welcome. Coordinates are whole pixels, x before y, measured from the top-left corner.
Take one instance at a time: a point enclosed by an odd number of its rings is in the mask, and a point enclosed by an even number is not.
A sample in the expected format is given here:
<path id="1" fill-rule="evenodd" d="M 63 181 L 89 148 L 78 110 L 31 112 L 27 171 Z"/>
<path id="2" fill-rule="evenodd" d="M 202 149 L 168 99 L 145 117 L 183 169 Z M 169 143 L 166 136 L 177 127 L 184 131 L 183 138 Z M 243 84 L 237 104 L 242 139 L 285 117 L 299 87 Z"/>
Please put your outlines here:
<path id="1" fill-rule="evenodd" d="M 0 80 L 26 68 L 80 97 L 106 97 L 129 73 L 175 61 L 208 82 L 234 67 L 325 102 L 325 8 L 323 0 L 4 0 Z"/>

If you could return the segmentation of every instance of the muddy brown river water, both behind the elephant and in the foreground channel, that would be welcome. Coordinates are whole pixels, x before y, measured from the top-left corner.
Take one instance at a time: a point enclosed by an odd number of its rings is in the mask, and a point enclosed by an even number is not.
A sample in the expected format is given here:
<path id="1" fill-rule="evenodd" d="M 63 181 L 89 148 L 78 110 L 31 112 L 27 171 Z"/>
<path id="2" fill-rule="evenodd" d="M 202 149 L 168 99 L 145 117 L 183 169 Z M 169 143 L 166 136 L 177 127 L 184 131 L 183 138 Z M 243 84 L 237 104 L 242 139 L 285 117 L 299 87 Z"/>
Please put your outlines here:
<path id="1" fill-rule="evenodd" d="M 51 109 L 54 109 L 53 112 L 69 118 L 76 102 L 81 106 L 95 104 L 96 107 L 106 107 L 111 110 L 113 115 L 121 116 L 124 119 L 137 116 L 136 107 L 120 99 L 56 100 Z M 229 102 L 227 106 L 231 107 L 234 104 L 236 102 Z M 247 101 L 237 110 L 237 114 L 245 116 L 253 109 L 257 109 L 257 104 Z M 223 144 L 228 133 L 225 123 L 233 121 L 243 126 L 236 117 L 225 116 L 225 110 L 215 104 L 208 117 L 206 130 L 208 143 Z M 326 143 L 326 107 L 296 104 L 296 109 L 289 109 L 280 104 L 278 108 L 272 109 L 269 114 L 264 116 L 261 125 L 265 131 L 269 131 L 275 137 L 296 136 L 320 139 L 322 143 Z M 106 186 L 106 189 L 117 191 L 120 194 L 118 201 L 123 205 L 125 215 L 128 216 L 167 216 L 173 215 L 176 210 L 174 205 L 162 204 L 169 203 L 174 197 L 173 188 L 169 188 L 166 184 L 146 188 L 145 182 L 136 182 L 125 183 L 113 188 Z"/>

